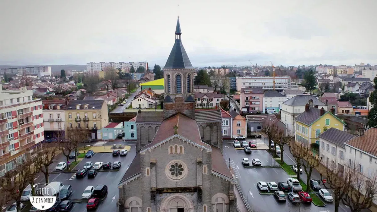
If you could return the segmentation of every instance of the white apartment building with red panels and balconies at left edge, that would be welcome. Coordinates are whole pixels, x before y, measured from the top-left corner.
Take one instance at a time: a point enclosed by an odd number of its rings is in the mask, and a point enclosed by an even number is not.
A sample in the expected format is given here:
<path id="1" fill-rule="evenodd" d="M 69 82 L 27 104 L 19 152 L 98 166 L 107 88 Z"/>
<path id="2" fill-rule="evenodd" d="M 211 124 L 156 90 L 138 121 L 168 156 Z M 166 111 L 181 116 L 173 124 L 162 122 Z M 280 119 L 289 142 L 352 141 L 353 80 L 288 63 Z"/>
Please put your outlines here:
<path id="1" fill-rule="evenodd" d="M 0 177 L 33 157 L 35 144 L 44 140 L 41 99 L 33 92 L 2 90 L 0 84 Z"/>

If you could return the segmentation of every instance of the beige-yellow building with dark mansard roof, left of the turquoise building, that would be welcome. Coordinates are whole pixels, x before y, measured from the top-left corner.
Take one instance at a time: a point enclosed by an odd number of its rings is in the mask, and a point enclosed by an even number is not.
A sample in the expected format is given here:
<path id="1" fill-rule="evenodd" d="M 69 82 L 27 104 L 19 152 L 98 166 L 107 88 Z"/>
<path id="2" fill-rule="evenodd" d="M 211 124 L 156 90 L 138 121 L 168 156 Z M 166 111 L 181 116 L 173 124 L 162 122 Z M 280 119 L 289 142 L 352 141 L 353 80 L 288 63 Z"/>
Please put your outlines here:
<path id="1" fill-rule="evenodd" d="M 104 100 L 72 100 L 64 111 L 65 129 L 89 129 L 92 139 L 100 138 L 97 130 L 109 123 L 107 104 Z"/>

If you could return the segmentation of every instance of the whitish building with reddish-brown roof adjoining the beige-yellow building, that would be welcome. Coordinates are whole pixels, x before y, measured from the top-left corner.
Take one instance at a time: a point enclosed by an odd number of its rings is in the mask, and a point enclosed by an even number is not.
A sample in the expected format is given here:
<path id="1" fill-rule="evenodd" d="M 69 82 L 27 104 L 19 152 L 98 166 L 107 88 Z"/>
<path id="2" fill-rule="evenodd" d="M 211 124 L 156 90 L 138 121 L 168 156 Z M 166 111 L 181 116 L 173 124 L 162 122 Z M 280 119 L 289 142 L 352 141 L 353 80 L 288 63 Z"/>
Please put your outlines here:
<path id="1" fill-rule="evenodd" d="M 66 116 L 64 111 L 67 109 L 66 100 L 42 100 L 43 104 L 43 123 L 44 137 L 46 140 L 58 139 L 57 136 L 64 136 L 66 129 Z M 60 132 L 60 134 L 58 134 Z"/>

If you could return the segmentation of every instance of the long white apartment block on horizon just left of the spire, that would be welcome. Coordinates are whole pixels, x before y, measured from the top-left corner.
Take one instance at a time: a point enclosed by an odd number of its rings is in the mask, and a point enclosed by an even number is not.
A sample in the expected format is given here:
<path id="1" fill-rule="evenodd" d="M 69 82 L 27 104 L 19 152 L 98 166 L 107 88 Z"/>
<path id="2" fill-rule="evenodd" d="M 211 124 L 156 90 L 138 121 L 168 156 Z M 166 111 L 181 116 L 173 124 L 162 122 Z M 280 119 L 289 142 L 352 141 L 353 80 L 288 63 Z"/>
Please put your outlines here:
<path id="1" fill-rule="evenodd" d="M 88 72 L 93 72 L 93 71 L 104 71 L 106 68 L 113 68 L 113 69 L 122 69 L 124 71 L 129 71 L 129 69 L 133 66 L 135 68 L 135 71 L 139 66 L 143 66 L 145 69 L 148 68 L 148 63 L 147 61 L 143 62 L 100 62 L 100 63 L 95 63 L 95 62 L 90 62 L 86 63 L 86 70 Z"/>

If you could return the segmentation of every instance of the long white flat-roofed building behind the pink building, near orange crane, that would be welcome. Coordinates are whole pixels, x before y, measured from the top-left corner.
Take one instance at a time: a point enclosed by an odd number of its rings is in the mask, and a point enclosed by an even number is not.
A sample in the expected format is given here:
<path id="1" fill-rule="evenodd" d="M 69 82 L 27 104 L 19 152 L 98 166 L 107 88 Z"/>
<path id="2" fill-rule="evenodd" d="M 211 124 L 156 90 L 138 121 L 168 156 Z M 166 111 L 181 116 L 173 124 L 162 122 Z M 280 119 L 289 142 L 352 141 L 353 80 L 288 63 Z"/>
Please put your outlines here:
<path id="1" fill-rule="evenodd" d="M 237 77 L 237 91 L 241 88 L 262 88 L 263 90 L 273 90 L 273 77 Z M 275 77 L 275 90 L 282 92 L 291 89 L 291 77 L 279 76 Z"/>

